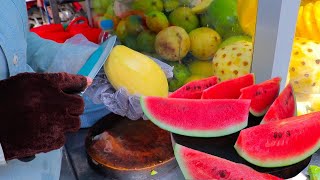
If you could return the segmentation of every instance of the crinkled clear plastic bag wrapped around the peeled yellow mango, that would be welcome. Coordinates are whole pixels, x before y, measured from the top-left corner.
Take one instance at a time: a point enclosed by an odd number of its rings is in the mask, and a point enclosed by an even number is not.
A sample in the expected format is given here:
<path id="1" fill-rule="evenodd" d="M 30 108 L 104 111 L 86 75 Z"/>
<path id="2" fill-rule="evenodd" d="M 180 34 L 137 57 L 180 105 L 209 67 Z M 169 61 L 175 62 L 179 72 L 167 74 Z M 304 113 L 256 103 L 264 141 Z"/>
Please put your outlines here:
<path id="1" fill-rule="evenodd" d="M 173 67 L 152 58 L 165 72 L 168 79 L 173 77 Z M 115 90 L 108 81 L 104 70 L 100 70 L 92 85 L 86 90 L 85 94 L 89 96 L 95 104 L 103 103 L 107 109 L 120 116 L 126 116 L 131 120 L 140 118 L 147 119 L 140 106 L 140 97 L 129 95 L 125 88 Z"/>

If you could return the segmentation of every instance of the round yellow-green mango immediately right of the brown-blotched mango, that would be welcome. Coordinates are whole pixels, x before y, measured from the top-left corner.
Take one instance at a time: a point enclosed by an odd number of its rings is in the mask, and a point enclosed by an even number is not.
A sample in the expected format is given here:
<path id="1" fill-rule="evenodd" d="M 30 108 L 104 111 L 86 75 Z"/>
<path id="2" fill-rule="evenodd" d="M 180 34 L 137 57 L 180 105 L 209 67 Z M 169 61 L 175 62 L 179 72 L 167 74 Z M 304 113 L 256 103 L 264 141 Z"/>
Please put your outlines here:
<path id="1" fill-rule="evenodd" d="M 189 33 L 191 54 L 200 60 L 211 60 L 221 43 L 220 35 L 213 29 L 201 27 Z"/>

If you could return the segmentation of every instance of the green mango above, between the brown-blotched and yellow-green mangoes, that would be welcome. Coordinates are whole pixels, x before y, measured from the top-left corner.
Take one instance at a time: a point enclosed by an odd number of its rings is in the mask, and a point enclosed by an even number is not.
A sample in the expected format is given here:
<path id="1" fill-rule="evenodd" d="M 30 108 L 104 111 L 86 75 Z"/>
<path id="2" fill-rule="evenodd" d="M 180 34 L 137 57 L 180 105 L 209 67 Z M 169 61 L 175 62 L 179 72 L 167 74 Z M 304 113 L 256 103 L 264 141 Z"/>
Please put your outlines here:
<path id="1" fill-rule="evenodd" d="M 174 26 L 180 26 L 188 33 L 199 26 L 198 17 L 188 7 L 179 7 L 169 15 L 169 21 Z"/>

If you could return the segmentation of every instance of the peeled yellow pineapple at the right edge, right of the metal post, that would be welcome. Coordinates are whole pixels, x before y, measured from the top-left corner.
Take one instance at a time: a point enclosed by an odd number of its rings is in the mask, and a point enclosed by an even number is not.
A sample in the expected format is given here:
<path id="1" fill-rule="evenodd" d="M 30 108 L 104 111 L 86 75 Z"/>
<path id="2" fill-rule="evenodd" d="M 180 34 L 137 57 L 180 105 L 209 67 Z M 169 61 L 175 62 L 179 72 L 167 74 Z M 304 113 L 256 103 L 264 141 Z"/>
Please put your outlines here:
<path id="1" fill-rule="evenodd" d="M 295 38 L 289 77 L 295 92 L 320 93 L 320 42 Z"/>

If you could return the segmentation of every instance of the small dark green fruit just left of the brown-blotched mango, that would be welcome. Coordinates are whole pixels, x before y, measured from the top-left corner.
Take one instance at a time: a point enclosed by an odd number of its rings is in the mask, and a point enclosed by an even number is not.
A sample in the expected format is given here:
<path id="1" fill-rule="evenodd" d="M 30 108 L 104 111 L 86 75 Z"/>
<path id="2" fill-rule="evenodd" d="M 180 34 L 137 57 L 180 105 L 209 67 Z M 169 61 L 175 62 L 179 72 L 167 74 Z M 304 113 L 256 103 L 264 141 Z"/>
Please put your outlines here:
<path id="1" fill-rule="evenodd" d="M 156 34 L 150 31 L 142 31 L 137 37 L 138 49 L 141 52 L 153 53 Z"/>

